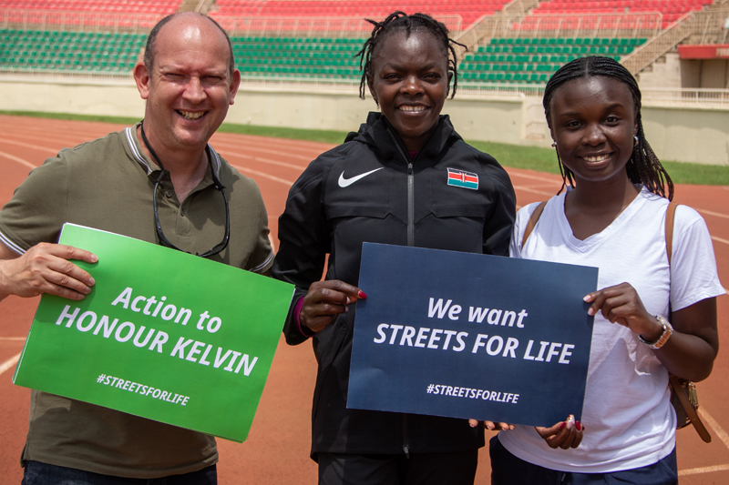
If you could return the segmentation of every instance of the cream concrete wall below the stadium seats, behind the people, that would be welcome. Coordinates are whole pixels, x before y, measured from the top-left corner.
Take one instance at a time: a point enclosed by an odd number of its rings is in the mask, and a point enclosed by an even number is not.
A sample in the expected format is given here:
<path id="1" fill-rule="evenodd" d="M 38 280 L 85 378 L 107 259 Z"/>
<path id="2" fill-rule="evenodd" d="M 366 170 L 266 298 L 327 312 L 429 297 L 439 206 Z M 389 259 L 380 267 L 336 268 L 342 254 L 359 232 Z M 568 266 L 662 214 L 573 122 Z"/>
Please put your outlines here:
<path id="1" fill-rule="evenodd" d="M 47 80 L 0 77 L 0 110 L 86 115 L 144 114 L 144 101 L 129 80 Z M 244 86 L 226 121 L 243 125 L 356 130 L 372 98 L 346 92 L 293 92 Z M 457 96 L 444 108 L 466 139 L 549 147 L 539 103 L 520 96 L 499 99 Z M 643 106 L 646 136 L 666 160 L 729 165 L 729 110 Z"/>

